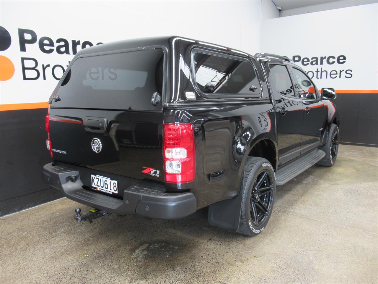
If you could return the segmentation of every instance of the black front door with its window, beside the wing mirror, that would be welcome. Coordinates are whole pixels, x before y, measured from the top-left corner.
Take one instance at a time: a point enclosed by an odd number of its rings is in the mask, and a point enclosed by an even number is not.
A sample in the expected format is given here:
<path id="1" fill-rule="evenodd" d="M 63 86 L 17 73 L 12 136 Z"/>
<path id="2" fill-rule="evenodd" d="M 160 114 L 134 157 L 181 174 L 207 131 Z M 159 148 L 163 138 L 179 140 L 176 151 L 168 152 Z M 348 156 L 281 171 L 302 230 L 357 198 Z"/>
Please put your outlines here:
<path id="1" fill-rule="evenodd" d="M 302 100 L 304 108 L 301 141 L 301 154 L 303 154 L 319 146 L 327 109 L 319 98 L 316 86 L 307 74 L 294 66 L 292 66 L 292 73 L 296 80 L 298 97 Z"/>

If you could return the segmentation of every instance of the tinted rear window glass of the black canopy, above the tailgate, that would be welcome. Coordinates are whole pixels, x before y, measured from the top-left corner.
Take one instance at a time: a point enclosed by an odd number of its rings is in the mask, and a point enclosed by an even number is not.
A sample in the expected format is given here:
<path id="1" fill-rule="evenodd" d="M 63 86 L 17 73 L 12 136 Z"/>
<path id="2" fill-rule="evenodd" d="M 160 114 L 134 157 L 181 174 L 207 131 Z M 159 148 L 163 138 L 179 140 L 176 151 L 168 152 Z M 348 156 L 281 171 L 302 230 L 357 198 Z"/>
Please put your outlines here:
<path id="1" fill-rule="evenodd" d="M 163 93 L 164 53 L 160 48 L 78 58 L 57 94 L 54 106 L 158 110 L 154 92 Z"/>

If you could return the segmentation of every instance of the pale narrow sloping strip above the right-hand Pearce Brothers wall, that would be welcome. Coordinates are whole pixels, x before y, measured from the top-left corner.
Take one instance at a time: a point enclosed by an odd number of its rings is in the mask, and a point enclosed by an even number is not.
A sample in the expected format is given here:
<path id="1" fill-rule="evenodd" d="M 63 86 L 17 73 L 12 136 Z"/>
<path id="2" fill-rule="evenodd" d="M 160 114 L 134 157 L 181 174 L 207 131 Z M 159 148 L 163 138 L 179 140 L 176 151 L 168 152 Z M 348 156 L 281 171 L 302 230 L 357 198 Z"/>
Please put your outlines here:
<path id="1" fill-rule="evenodd" d="M 299 14 L 307 14 L 312 12 L 327 11 L 332 9 L 346 8 L 351 6 L 366 5 L 377 3 L 377 0 L 339 0 L 332 1 L 328 3 L 322 3 L 317 5 L 310 5 L 306 7 L 293 8 L 283 10 L 281 12 L 281 17 L 294 16 Z"/>

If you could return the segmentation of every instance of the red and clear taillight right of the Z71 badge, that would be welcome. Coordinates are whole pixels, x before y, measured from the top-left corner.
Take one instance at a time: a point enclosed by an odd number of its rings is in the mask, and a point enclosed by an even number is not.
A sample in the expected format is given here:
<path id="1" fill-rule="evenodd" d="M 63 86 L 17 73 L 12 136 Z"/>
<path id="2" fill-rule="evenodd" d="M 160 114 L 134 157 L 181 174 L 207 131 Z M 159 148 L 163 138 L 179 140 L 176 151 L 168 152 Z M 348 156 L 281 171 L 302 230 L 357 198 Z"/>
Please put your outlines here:
<path id="1" fill-rule="evenodd" d="M 191 123 L 164 123 L 163 155 L 167 183 L 194 180 L 194 132 Z"/>

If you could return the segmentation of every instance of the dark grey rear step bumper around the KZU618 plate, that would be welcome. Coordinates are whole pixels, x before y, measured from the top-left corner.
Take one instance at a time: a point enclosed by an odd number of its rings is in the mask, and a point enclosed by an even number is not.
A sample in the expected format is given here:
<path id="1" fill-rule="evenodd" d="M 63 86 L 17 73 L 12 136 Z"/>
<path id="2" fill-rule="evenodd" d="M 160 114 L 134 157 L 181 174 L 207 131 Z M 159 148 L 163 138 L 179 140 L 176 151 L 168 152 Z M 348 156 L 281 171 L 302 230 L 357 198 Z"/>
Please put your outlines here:
<path id="1" fill-rule="evenodd" d="M 43 176 L 50 186 L 59 189 L 65 197 L 109 213 L 173 220 L 197 210 L 193 193 L 166 193 L 160 184 L 136 182 L 124 189 L 121 200 L 84 189 L 79 171 L 75 169 L 50 163 L 43 167 Z M 76 181 L 71 181 L 71 176 L 75 176 Z"/>

